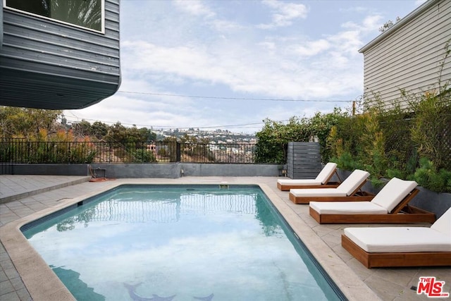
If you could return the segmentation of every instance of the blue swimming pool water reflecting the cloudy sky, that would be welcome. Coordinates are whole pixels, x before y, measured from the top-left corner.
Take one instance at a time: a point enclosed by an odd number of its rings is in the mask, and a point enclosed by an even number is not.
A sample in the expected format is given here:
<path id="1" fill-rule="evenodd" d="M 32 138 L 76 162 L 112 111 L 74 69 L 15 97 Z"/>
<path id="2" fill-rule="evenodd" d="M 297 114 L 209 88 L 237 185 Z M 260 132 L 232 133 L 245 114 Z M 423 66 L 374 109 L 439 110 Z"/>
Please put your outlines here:
<path id="1" fill-rule="evenodd" d="M 254 185 L 123 185 L 21 230 L 77 300 L 345 300 Z"/>

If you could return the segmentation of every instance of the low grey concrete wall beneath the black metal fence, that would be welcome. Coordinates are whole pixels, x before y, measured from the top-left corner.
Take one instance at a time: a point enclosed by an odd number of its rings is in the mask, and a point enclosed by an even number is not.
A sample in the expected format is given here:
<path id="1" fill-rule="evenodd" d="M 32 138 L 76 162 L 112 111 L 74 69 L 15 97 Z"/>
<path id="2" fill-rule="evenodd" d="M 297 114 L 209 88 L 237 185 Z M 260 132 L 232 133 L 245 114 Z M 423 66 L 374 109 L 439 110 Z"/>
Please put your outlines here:
<path id="1" fill-rule="evenodd" d="M 279 176 L 278 164 L 13 164 L 15 175 L 97 178 L 179 178 L 181 176 Z"/>

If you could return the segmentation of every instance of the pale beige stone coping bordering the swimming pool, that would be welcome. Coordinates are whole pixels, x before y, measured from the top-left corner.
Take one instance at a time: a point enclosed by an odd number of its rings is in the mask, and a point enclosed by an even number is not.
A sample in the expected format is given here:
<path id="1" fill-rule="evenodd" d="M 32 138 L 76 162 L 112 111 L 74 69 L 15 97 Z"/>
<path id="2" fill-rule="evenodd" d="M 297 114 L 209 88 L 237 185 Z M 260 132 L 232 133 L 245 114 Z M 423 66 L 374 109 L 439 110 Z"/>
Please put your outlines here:
<path id="1" fill-rule="evenodd" d="M 106 190 L 117 188 L 121 185 L 174 185 L 174 183 L 143 183 L 142 181 L 121 180 L 120 182 L 112 182 L 99 190 L 94 190 L 80 197 L 68 199 L 34 214 L 25 216 L 1 227 L 0 240 L 4 244 L 6 251 L 11 257 L 11 261 L 21 278 L 25 287 L 29 291 L 33 300 L 60 301 L 75 300 L 65 285 L 59 280 L 54 271 L 44 262 L 44 259 L 35 251 L 35 249 L 27 241 L 20 227 L 30 221 L 35 221 L 42 216 L 47 216 L 59 209 L 63 209 L 73 204 L 98 195 Z M 184 183 L 178 183 L 178 185 Z M 202 183 L 198 183 L 202 184 Z M 326 273 L 342 291 L 349 300 L 381 300 L 376 293 L 373 292 L 358 276 L 352 271 L 350 266 L 338 257 L 335 252 L 324 242 L 319 236 L 307 225 L 292 208 L 286 204 L 268 185 L 257 182 L 247 183 L 206 183 L 208 185 L 257 185 L 264 191 L 268 199 L 271 200 L 274 207 L 284 217 L 285 221 L 290 225 L 295 234 L 306 245 L 316 261 L 323 267 Z M 185 183 L 185 185 L 195 185 L 193 183 Z M 345 277 L 343 277 L 345 275 Z"/>

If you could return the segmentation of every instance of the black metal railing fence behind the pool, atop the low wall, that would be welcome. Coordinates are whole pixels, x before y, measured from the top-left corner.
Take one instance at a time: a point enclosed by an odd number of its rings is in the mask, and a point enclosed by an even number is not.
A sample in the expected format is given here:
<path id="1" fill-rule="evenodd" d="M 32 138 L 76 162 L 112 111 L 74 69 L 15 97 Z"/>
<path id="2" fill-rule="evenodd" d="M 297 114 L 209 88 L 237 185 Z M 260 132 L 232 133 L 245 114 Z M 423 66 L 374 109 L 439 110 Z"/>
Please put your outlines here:
<path id="1" fill-rule="evenodd" d="M 0 141 L 0 162 L 10 164 L 254 163 L 255 143 Z M 3 168 L 2 168 L 3 169 Z"/>

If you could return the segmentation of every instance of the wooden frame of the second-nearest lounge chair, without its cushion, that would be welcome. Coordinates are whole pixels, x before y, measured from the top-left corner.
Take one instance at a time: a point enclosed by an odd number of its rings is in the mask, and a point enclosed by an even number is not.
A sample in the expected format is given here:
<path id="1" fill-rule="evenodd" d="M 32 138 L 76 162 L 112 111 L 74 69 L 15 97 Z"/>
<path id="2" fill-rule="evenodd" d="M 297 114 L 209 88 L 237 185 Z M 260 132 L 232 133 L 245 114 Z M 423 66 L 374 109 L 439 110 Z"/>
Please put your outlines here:
<path id="1" fill-rule="evenodd" d="M 414 188 L 388 214 L 319 214 L 311 207 L 309 213 L 318 223 L 433 223 L 435 214 L 408 205 L 418 192 Z"/>

